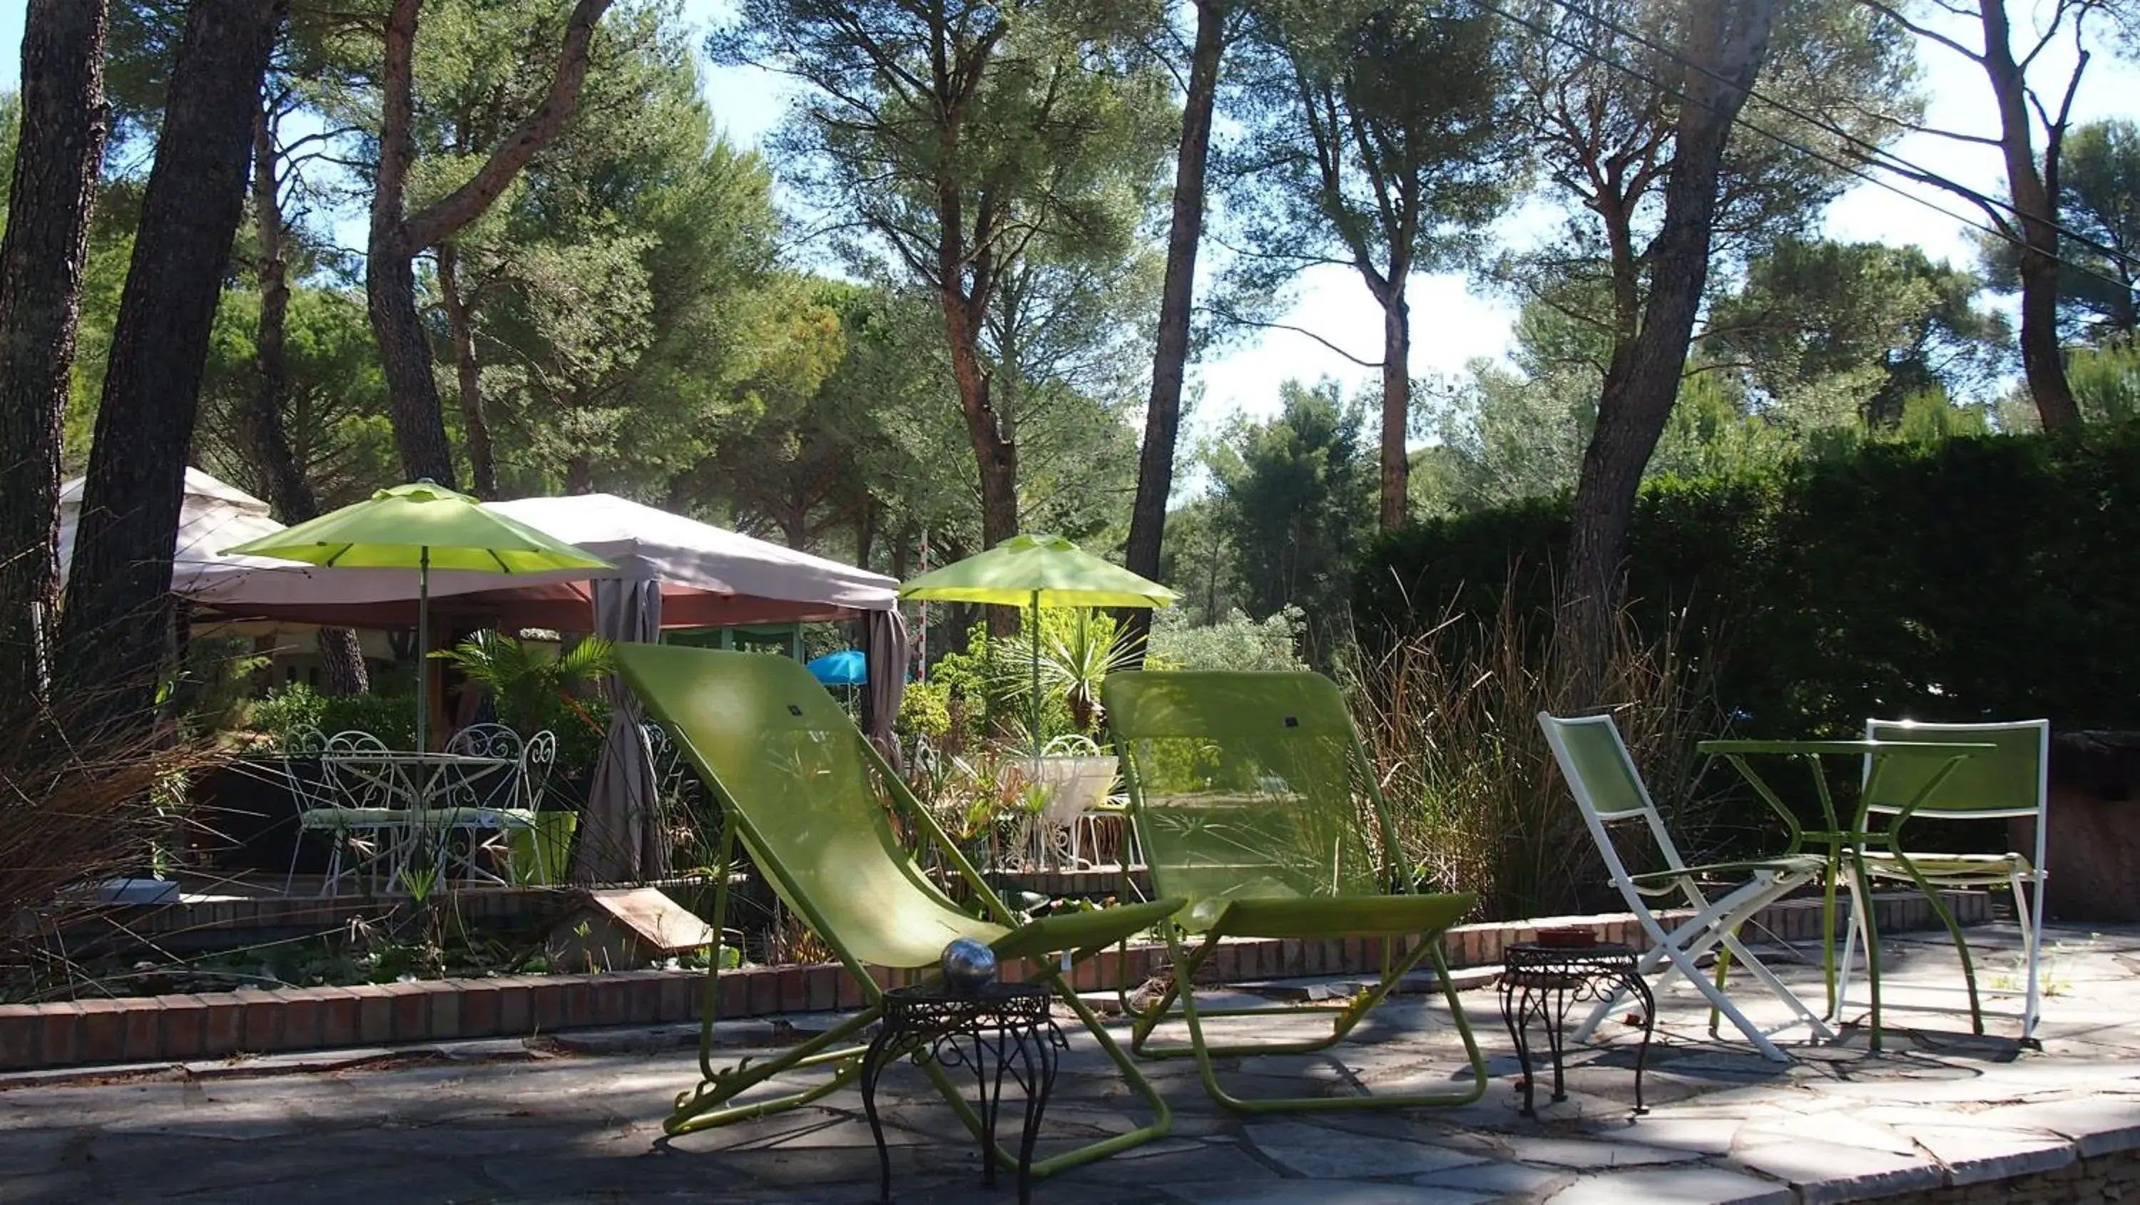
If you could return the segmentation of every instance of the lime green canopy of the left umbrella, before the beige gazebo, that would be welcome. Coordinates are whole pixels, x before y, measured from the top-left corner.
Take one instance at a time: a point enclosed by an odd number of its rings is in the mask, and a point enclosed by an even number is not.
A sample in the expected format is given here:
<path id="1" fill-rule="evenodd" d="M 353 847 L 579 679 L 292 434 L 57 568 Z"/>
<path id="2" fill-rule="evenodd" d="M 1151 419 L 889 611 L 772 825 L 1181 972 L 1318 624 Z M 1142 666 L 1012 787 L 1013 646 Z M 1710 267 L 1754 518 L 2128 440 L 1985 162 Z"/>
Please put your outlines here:
<path id="1" fill-rule="evenodd" d="M 225 554 L 280 556 L 338 569 L 614 569 L 599 556 L 432 482 L 379 490 L 362 503 L 225 548 Z"/>

